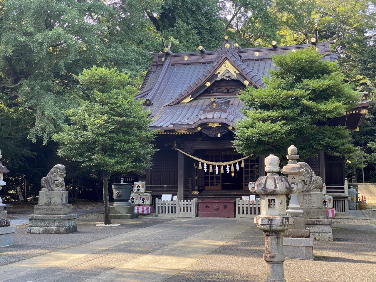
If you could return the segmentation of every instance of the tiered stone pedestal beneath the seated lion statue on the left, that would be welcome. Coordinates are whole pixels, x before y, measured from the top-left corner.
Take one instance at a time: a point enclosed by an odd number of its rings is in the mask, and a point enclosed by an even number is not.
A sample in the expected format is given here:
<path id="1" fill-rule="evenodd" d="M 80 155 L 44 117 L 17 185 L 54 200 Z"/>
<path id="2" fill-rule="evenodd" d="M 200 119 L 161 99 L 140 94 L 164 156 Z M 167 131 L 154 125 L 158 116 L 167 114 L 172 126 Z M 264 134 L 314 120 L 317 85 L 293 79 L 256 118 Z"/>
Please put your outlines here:
<path id="1" fill-rule="evenodd" d="M 77 232 L 77 214 L 72 214 L 68 204 L 68 191 L 39 191 L 38 205 L 29 215 L 27 233 L 66 234 Z"/>

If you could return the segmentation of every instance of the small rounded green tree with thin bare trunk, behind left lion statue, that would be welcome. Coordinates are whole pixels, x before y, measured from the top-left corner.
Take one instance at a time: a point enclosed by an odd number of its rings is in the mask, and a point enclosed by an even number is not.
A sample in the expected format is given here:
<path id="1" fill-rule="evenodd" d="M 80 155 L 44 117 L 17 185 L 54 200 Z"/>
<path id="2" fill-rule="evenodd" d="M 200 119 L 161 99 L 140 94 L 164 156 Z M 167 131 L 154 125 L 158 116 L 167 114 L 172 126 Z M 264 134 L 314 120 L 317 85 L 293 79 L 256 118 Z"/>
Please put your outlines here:
<path id="1" fill-rule="evenodd" d="M 64 111 L 69 124 L 53 135 L 58 155 L 102 173 L 105 224 L 109 218 L 108 180 L 115 172 L 145 170 L 155 152 L 151 120 L 135 100 L 135 89 L 126 86 L 128 75 L 114 68 L 92 67 L 76 77 L 80 106 Z"/>

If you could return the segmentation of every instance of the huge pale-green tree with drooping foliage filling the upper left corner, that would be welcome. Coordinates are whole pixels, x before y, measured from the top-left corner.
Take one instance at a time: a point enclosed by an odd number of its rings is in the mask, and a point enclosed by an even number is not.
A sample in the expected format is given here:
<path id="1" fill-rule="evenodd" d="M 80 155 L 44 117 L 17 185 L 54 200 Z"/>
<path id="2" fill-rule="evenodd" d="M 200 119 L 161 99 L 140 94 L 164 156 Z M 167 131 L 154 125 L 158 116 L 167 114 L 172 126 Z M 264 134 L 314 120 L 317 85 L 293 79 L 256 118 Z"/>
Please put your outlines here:
<path id="1" fill-rule="evenodd" d="M 0 2 L 0 98 L 32 117 L 24 125 L 33 142 L 47 143 L 64 123 L 73 75 L 102 59 L 105 19 L 113 16 L 100 0 Z"/>

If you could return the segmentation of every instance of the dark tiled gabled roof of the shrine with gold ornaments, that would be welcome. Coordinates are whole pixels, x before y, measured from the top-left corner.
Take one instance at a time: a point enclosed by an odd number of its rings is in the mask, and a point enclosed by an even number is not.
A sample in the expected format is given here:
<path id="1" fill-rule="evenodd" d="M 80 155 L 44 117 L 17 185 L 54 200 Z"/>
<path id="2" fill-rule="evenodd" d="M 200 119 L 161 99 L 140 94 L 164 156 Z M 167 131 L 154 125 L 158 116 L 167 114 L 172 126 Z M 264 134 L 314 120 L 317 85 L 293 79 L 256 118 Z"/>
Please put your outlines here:
<path id="1" fill-rule="evenodd" d="M 309 46 L 240 49 L 232 41 L 224 41 L 214 51 L 154 54 L 152 68 L 136 98 L 146 100 L 152 129 L 193 133 L 209 123 L 230 127 L 244 118 L 238 91 L 208 92 L 206 83 L 211 87 L 214 82 L 226 85 L 226 81 L 236 80 L 239 85 L 248 82 L 248 86 L 264 87 L 262 77 L 270 68 L 276 68 L 272 55 Z M 318 53 L 325 54 L 325 60 L 338 60 L 336 54 L 329 53 L 329 42 L 319 43 L 317 48 Z M 221 107 L 217 107 L 219 104 Z"/>

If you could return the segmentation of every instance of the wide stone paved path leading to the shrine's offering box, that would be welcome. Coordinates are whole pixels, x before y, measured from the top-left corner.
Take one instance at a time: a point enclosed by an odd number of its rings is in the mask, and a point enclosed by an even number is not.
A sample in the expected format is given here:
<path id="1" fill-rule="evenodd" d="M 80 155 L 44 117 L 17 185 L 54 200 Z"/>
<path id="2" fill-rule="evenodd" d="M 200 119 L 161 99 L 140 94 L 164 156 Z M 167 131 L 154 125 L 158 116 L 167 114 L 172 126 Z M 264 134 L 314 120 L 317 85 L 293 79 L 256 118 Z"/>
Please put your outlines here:
<path id="1" fill-rule="evenodd" d="M 0 267 L 0 282 L 162 282 L 254 224 L 179 218 Z"/>

